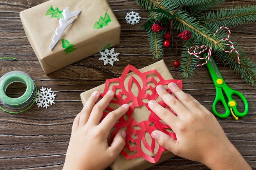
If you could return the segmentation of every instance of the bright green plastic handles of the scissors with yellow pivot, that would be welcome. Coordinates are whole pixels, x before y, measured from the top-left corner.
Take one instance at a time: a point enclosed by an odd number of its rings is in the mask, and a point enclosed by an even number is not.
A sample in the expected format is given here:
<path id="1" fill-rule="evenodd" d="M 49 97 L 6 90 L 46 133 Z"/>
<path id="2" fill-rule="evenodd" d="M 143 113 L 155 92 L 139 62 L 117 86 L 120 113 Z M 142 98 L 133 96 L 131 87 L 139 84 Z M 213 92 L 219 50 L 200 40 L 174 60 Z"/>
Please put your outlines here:
<path id="1" fill-rule="evenodd" d="M 225 101 L 222 90 L 224 91 L 225 95 L 227 95 L 228 102 Z M 232 95 L 237 95 L 238 97 L 240 97 L 240 99 L 242 99 L 242 101 L 244 103 L 244 107 L 245 107 L 245 109 L 242 113 L 238 111 L 237 102 L 232 98 Z M 223 104 L 223 106 L 225 108 L 225 113 L 220 114 L 216 110 L 216 104 L 218 102 L 221 102 Z M 244 117 L 248 112 L 248 102 L 241 93 L 229 88 L 225 84 L 225 88 L 216 87 L 216 97 L 215 97 L 215 100 L 213 102 L 213 107 L 212 108 L 213 108 L 213 113 L 221 119 L 226 119 L 230 115 L 230 112 L 234 113 L 234 115 L 236 115 L 236 117 Z"/>

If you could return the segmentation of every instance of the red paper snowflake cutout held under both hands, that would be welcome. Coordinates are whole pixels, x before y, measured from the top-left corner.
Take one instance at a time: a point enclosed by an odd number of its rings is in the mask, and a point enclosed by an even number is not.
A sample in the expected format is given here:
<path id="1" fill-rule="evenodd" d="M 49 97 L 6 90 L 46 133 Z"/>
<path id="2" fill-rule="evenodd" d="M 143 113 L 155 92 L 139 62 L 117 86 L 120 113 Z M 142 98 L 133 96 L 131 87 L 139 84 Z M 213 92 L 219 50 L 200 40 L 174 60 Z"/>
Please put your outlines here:
<path id="1" fill-rule="evenodd" d="M 127 85 L 127 89 L 125 88 L 125 79 L 127 77 L 127 74 L 132 71 L 134 72 L 141 80 L 142 86 L 139 84 L 139 81 L 134 77 L 130 76 Z M 156 80 L 153 75 L 157 77 Z M 156 100 L 158 95 L 156 92 L 155 87 L 158 84 L 167 85 L 170 82 L 174 82 L 182 89 L 182 81 L 176 80 L 176 79 L 168 79 L 165 80 L 158 72 L 157 70 L 151 70 L 144 73 L 141 73 L 137 68 L 134 66 L 128 65 L 124 69 L 124 72 L 122 73 L 121 77 L 119 78 L 113 78 L 113 79 L 107 79 L 105 88 L 103 93 L 101 93 L 101 97 L 103 97 L 108 90 L 112 90 L 115 92 L 114 98 L 111 100 L 110 104 L 116 104 L 116 105 L 123 105 L 123 104 L 129 104 L 129 110 L 127 111 L 126 115 L 122 116 L 119 121 L 114 126 L 114 131 L 112 132 L 110 136 L 110 141 L 113 140 L 115 137 L 115 134 L 118 130 L 122 128 L 126 128 L 126 146 L 125 148 L 129 150 L 129 153 L 123 149 L 121 153 L 126 157 L 127 159 L 133 159 L 137 157 L 143 157 L 147 161 L 151 163 L 156 163 L 160 156 L 162 155 L 162 152 L 166 149 L 162 146 L 158 147 L 158 150 L 154 157 L 151 157 L 150 155 L 147 155 L 144 153 L 144 151 L 141 149 L 141 144 L 144 145 L 144 148 L 148 150 L 150 153 L 153 153 L 154 150 L 156 150 L 155 145 L 155 139 L 151 138 L 151 146 L 148 144 L 148 142 L 145 139 L 145 134 L 148 132 L 150 135 L 151 132 L 154 130 L 161 130 L 162 132 L 165 132 L 167 135 L 173 137 L 176 140 L 176 135 L 173 132 L 168 132 L 166 129 L 171 129 L 169 126 L 163 124 L 160 120 L 160 118 L 148 107 L 148 103 L 143 102 L 145 99 L 147 101 L 153 99 Z M 138 88 L 138 94 L 135 96 L 132 93 L 132 84 L 135 84 Z M 148 84 L 154 85 L 148 85 Z M 112 85 L 113 84 L 113 85 Z M 171 92 L 167 89 L 167 91 L 171 94 Z M 151 92 L 151 93 L 149 93 Z M 132 103 L 132 104 L 130 104 Z M 171 111 L 171 109 L 163 102 L 158 102 L 161 106 L 168 108 L 168 110 Z M 141 107 L 146 106 L 146 108 L 149 110 L 150 115 L 148 116 L 148 120 L 137 122 L 135 119 L 132 118 L 132 113 L 134 111 L 135 107 Z M 106 110 L 103 113 L 102 119 L 108 115 L 109 112 L 113 111 L 114 109 L 110 107 L 110 105 L 106 108 Z M 172 111 L 171 111 L 172 112 Z M 172 112 L 173 113 L 173 112 Z M 139 114 L 139 113 L 137 113 Z M 143 113 L 141 113 L 143 114 Z M 175 114 L 175 113 L 173 113 Z M 128 118 L 127 118 L 128 117 Z M 135 138 L 135 139 L 134 139 Z"/>

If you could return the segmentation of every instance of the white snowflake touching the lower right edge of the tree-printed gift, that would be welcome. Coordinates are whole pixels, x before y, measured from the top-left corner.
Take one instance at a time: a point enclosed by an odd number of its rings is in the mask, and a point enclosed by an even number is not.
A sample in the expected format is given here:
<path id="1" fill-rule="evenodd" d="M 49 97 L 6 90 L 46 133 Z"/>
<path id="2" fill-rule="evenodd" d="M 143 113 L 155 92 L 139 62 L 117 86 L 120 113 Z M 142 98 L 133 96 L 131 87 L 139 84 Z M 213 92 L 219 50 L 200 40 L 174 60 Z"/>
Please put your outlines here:
<path id="1" fill-rule="evenodd" d="M 111 66 L 113 66 L 114 62 L 119 61 L 117 56 L 120 53 L 115 53 L 115 48 L 112 48 L 111 50 L 106 49 L 104 51 L 100 51 L 99 53 L 101 53 L 101 57 L 99 58 L 99 60 L 104 61 L 104 65 L 110 64 Z"/>

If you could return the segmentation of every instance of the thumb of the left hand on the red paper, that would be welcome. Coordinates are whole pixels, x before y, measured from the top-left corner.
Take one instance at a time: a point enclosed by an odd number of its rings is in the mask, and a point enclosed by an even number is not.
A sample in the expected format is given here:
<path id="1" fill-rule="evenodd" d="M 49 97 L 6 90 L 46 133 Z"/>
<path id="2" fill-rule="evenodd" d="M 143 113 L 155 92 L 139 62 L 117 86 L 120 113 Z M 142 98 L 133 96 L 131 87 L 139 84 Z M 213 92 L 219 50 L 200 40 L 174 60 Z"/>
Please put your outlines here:
<path id="1" fill-rule="evenodd" d="M 126 132 L 124 130 L 120 130 L 116 133 L 110 147 L 108 148 L 108 151 L 110 153 L 109 155 L 112 155 L 112 158 L 116 159 L 121 150 L 124 148 L 125 138 Z"/>

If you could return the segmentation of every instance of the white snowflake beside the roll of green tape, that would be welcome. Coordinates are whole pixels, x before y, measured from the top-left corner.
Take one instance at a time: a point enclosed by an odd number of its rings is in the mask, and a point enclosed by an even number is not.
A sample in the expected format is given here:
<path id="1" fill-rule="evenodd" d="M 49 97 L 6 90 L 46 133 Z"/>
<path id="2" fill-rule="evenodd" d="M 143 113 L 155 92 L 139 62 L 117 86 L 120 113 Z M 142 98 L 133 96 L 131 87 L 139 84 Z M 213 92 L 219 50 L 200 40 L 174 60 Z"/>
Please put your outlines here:
<path id="1" fill-rule="evenodd" d="M 43 88 L 40 89 L 40 91 L 37 92 L 37 97 L 36 97 L 36 104 L 39 107 L 44 107 L 44 108 L 48 108 L 49 104 L 55 104 L 54 100 L 55 100 L 55 94 L 52 91 L 52 88 Z"/>

